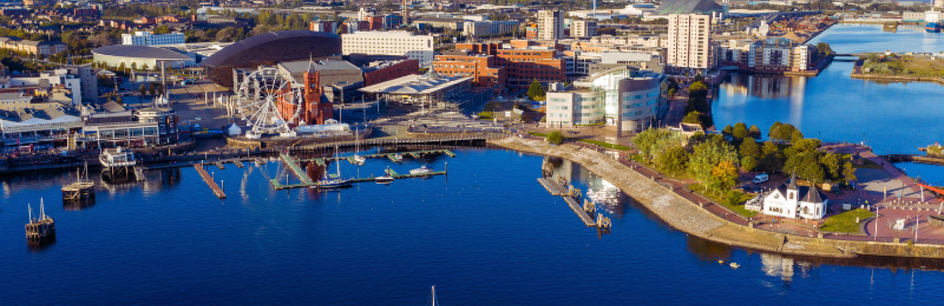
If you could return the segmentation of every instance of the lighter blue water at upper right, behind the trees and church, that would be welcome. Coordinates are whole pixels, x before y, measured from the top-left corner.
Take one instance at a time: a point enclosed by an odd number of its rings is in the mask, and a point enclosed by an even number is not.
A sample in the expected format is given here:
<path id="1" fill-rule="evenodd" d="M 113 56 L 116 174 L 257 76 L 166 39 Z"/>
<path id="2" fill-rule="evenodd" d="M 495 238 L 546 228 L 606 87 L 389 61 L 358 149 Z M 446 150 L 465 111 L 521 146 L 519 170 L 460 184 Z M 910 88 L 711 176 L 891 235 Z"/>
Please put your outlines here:
<path id="1" fill-rule="evenodd" d="M 837 53 L 944 51 L 944 35 L 918 26 L 892 33 L 881 25 L 836 25 L 810 43 L 817 42 L 829 42 Z M 944 141 L 944 86 L 853 79 L 851 69 L 851 62 L 834 61 L 815 77 L 732 76 L 719 86 L 715 124 L 745 122 L 766 134 L 780 121 L 807 137 L 865 142 L 878 154 L 919 153 L 921 146 Z"/>

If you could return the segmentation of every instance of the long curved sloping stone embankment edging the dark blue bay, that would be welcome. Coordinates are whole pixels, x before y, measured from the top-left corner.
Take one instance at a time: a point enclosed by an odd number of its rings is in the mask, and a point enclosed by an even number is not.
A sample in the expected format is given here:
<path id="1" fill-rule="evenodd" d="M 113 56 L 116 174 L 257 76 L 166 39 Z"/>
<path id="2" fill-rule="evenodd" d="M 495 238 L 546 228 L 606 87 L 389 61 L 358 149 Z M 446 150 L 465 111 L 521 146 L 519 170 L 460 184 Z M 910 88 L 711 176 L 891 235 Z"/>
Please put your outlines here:
<path id="1" fill-rule="evenodd" d="M 595 175 L 610 181 L 627 195 L 631 195 L 669 226 L 718 243 L 784 254 L 835 258 L 853 258 L 859 255 L 944 258 L 944 246 L 938 245 L 823 239 L 741 226 L 704 210 L 699 204 L 640 175 L 612 157 L 582 146 L 551 146 L 544 141 L 519 137 L 508 137 L 490 143 L 577 162 Z"/>

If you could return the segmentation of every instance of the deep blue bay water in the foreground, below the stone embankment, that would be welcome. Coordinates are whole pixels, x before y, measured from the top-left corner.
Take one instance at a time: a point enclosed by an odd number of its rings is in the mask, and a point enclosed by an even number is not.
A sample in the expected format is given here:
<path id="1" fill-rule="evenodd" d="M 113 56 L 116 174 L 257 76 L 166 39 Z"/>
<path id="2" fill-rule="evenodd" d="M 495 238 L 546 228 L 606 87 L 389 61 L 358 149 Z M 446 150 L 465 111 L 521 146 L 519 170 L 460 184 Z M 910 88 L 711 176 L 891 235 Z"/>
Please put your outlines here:
<path id="1" fill-rule="evenodd" d="M 92 205 L 63 205 L 75 174 L 0 180 L 4 305 L 879 304 L 932 301 L 940 261 L 829 261 L 761 254 L 668 228 L 626 195 L 602 207 L 612 232 L 583 226 L 535 180 L 543 157 L 454 149 L 456 158 L 342 162 L 345 176 L 428 164 L 447 176 L 275 191 L 280 161 L 193 168 L 143 182 L 98 180 Z M 346 153 L 350 154 L 350 153 Z M 583 191 L 608 183 L 549 161 Z M 334 171 L 331 165 L 330 171 Z M 290 179 L 292 180 L 292 179 Z M 45 199 L 57 241 L 26 245 L 26 203 Z M 718 259 L 740 263 L 733 269 Z M 924 266 L 924 268 L 921 268 Z"/>

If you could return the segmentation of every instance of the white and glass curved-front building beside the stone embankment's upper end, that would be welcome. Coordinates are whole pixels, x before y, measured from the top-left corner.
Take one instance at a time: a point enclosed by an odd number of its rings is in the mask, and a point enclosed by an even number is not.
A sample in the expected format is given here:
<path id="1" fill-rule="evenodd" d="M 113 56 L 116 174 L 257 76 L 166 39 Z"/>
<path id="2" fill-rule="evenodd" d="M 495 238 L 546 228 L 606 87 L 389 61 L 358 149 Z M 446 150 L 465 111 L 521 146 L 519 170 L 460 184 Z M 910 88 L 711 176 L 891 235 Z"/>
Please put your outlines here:
<path id="1" fill-rule="evenodd" d="M 667 80 L 663 74 L 615 67 L 578 79 L 570 88 L 551 86 L 546 127 L 605 124 L 620 132 L 638 132 L 657 126 L 657 118 L 668 108 Z"/>

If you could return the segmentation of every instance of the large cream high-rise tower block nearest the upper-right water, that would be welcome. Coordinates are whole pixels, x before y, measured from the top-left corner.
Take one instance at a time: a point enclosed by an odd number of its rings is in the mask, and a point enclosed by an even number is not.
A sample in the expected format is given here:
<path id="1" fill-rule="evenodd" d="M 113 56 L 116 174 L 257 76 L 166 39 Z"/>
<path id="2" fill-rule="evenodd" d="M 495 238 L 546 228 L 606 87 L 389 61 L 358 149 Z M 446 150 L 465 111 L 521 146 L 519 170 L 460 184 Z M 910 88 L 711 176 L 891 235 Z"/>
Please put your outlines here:
<path id="1" fill-rule="evenodd" d="M 666 45 L 669 66 L 711 69 L 715 66 L 711 44 L 711 15 L 668 15 Z"/>

